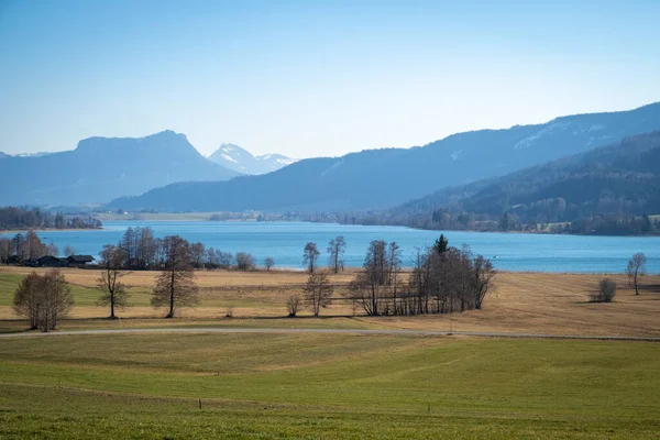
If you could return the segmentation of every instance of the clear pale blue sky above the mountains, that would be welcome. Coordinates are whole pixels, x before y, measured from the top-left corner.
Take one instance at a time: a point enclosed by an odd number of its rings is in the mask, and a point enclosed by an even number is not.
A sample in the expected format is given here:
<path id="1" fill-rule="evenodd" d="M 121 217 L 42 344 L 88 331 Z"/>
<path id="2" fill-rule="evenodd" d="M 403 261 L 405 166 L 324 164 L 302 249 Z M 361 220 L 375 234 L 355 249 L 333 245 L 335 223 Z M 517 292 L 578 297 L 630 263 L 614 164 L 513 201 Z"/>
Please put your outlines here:
<path id="1" fill-rule="evenodd" d="M 660 1 L 0 0 L 0 151 L 337 156 L 660 101 Z"/>

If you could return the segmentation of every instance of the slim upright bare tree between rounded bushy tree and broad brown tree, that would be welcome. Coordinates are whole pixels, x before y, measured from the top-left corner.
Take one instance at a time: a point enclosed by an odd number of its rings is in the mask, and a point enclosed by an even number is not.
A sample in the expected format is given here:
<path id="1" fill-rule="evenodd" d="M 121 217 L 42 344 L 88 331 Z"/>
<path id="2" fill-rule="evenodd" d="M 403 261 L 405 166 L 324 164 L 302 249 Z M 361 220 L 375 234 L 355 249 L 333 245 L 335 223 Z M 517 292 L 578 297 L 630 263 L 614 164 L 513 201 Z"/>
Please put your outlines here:
<path id="1" fill-rule="evenodd" d="M 106 244 L 101 251 L 101 276 L 97 280 L 97 286 L 103 293 L 98 304 L 110 306 L 109 319 L 116 319 L 114 309 L 123 309 L 128 306 L 129 294 L 121 278 L 127 274 L 122 268 L 127 261 L 127 253 L 123 249 Z"/>

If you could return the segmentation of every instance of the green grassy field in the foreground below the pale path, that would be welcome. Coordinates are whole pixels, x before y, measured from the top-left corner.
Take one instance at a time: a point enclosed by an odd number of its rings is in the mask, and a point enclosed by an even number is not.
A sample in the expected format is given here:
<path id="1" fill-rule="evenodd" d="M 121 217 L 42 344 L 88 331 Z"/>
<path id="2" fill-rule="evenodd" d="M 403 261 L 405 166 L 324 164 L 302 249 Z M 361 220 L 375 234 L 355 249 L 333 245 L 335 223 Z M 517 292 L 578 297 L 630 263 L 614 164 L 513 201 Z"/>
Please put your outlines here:
<path id="1" fill-rule="evenodd" d="M 635 342 L 10 338 L 0 438 L 657 438 L 659 367 Z"/>

